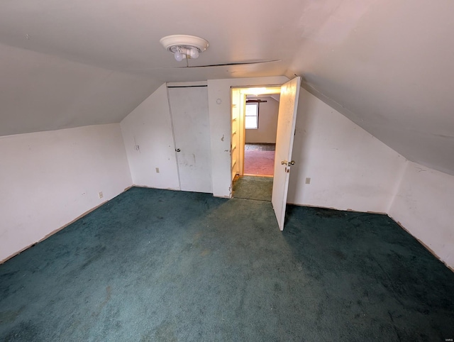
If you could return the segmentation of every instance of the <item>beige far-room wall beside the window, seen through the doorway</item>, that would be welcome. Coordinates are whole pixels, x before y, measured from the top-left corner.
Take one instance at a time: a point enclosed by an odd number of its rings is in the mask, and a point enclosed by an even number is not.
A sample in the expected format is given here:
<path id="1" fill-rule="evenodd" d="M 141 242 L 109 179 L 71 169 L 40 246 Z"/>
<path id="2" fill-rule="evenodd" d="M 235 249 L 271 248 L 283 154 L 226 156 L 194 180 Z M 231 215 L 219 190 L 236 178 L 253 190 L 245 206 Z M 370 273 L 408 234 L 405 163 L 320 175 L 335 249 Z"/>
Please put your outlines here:
<path id="1" fill-rule="evenodd" d="M 279 102 L 271 96 L 261 96 L 257 99 L 264 100 L 259 104 L 258 129 L 246 130 L 246 143 L 276 143 L 277 114 Z"/>

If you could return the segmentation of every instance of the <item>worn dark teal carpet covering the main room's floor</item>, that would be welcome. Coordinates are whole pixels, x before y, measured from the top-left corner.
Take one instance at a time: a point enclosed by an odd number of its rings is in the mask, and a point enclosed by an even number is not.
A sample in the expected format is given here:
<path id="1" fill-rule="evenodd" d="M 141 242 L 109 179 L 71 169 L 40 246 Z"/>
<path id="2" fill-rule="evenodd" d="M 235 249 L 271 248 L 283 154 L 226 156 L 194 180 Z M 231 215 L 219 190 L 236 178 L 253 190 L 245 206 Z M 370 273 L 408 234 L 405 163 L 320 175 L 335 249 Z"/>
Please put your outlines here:
<path id="1" fill-rule="evenodd" d="M 133 188 L 0 265 L 1 341 L 445 341 L 454 274 L 387 216 Z"/>

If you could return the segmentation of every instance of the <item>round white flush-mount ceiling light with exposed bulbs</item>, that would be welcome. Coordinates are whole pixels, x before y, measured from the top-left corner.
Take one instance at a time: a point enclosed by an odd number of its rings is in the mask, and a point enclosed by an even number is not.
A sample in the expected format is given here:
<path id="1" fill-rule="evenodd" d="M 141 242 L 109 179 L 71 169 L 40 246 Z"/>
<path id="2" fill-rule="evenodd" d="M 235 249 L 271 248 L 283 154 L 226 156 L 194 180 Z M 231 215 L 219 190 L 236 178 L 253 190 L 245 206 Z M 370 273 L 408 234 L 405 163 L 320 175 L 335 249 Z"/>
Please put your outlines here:
<path id="1" fill-rule="evenodd" d="M 175 60 L 184 58 L 197 58 L 208 48 L 208 41 L 195 35 L 166 35 L 160 43 L 167 51 L 175 55 Z"/>

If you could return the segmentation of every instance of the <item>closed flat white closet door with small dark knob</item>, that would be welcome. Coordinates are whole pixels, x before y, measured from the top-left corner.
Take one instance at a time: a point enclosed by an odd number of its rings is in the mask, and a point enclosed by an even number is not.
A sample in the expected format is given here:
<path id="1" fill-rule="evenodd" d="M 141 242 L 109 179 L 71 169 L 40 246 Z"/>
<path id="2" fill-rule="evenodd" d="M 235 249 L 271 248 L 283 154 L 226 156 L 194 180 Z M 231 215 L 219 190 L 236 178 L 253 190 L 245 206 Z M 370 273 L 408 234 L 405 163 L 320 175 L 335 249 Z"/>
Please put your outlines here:
<path id="1" fill-rule="evenodd" d="M 168 88 L 182 191 L 212 192 L 206 87 Z"/>

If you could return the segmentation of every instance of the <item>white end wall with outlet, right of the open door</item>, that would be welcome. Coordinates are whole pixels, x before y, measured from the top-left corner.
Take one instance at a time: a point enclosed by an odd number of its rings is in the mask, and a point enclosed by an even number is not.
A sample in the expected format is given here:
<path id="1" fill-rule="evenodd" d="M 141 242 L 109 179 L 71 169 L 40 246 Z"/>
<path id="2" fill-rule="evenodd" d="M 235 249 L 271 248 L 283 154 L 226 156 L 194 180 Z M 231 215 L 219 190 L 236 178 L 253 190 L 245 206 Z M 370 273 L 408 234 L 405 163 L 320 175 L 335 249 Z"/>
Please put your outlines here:
<path id="1" fill-rule="evenodd" d="M 405 166 L 401 155 L 305 89 L 292 157 L 287 202 L 341 210 L 387 213 Z"/>

